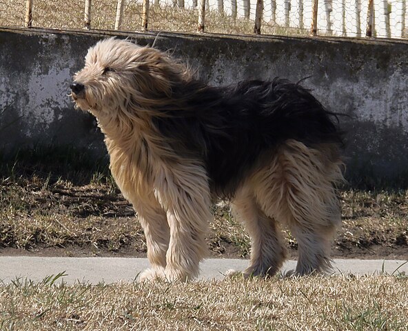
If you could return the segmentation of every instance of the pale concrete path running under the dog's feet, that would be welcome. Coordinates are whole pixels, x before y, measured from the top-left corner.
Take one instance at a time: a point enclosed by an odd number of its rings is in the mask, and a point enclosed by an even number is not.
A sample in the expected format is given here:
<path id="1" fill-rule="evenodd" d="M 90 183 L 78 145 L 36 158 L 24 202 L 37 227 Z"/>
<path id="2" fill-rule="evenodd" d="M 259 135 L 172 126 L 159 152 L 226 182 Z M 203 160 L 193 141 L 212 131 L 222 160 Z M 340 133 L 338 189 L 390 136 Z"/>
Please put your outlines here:
<path id="1" fill-rule="evenodd" d="M 228 269 L 243 270 L 247 260 L 207 259 L 201 263 L 201 279 L 223 279 Z M 147 259 L 111 257 L 0 257 L 0 280 L 3 283 L 18 278 L 41 281 L 47 276 L 64 272 L 66 283 L 85 281 L 115 283 L 133 281 L 139 272 L 149 266 Z M 283 272 L 294 269 L 296 261 L 287 261 Z M 408 262 L 400 260 L 336 259 L 334 272 L 343 274 L 408 274 Z"/>

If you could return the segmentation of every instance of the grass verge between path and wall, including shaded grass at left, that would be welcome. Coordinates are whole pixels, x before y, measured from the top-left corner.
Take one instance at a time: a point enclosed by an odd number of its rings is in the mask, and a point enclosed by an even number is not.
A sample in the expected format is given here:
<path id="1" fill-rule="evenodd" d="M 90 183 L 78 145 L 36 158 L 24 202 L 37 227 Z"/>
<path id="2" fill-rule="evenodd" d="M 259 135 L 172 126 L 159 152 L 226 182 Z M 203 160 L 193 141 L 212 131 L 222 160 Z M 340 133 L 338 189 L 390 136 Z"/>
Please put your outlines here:
<path id="1" fill-rule="evenodd" d="M 108 169 L 72 150 L 19 154 L 0 175 L 0 248 L 59 249 L 50 254 L 144 256 L 143 231 Z M 344 190 L 335 257 L 408 254 L 408 192 Z M 296 241 L 286 231 L 296 254 Z M 250 239 L 228 205 L 214 206 L 213 256 L 247 257 Z M 1 253 L 1 250 L 0 250 Z M 8 252 L 9 254 L 9 252 Z M 404 257 L 405 256 L 405 257 Z"/>

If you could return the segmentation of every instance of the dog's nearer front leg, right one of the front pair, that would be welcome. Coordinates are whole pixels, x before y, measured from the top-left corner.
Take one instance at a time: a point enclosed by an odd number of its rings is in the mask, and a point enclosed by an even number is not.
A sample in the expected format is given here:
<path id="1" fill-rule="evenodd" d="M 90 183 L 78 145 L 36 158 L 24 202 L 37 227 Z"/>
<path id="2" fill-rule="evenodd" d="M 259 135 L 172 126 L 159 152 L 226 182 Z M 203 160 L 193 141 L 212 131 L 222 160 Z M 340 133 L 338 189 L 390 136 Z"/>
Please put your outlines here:
<path id="1" fill-rule="evenodd" d="M 200 261 L 207 254 L 205 234 L 212 218 L 205 170 L 201 165 L 187 162 L 163 168 L 155 190 L 167 210 L 170 226 L 165 278 L 170 281 L 194 279 Z"/>

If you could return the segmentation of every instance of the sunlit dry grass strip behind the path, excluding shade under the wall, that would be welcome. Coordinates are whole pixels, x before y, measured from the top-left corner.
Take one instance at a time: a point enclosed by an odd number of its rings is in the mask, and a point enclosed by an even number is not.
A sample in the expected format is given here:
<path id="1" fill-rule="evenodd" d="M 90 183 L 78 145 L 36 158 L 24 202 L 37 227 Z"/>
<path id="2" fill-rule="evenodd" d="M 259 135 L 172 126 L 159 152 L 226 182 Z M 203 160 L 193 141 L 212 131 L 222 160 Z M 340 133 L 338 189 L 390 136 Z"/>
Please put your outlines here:
<path id="1" fill-rule="evenodd" d="M 143 231 L 132 207 L 110 181 L 73 185 L 62 179 L 50 183 L 50 177 L 8 177 L 0 179 L 0 189 L 0 247 L 30 250 L 77 246 L 87 247 L 90 254 L 145 253 Z M 405 192 L 346 190 L 342 198 L 343 228 L 336 239 L 335 254 L 347 256 L 350 250 L 369 253 L 378 245 L 394 248 L 395 254 L 398 248 L 407 248 Z M 286 237 L 296 249 L 289 231 Z M 208 243 L 214 255 L 249 254 L 250 239 L 228 205 L 214 206 Z M 67 250 L 66 254 L 75 253 Z"/>

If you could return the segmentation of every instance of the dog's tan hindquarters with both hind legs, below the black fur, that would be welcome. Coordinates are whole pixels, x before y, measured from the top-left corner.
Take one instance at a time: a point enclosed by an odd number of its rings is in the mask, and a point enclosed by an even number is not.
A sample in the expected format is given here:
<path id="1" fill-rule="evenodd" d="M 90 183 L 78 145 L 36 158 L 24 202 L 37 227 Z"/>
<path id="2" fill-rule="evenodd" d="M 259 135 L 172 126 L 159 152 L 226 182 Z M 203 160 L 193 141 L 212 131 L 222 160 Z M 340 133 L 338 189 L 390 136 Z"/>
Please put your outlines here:
<path id="1" fill-rule="evenodd" d="M 330 243 L 340 225 L 333 183 L 343 181 L 343 163 L 330 159 L 329 146 L 320 149 L 286 141 L 237 194 L 234 208 L 252 235 L 245 274 L 275 274 L 281 267 L 285 248 L 277 223 L 289 227 L 298 241 L 296 274 L 331 268 Z"/>

